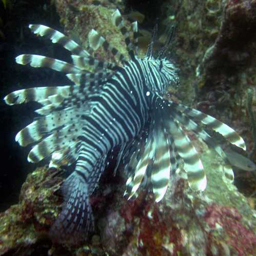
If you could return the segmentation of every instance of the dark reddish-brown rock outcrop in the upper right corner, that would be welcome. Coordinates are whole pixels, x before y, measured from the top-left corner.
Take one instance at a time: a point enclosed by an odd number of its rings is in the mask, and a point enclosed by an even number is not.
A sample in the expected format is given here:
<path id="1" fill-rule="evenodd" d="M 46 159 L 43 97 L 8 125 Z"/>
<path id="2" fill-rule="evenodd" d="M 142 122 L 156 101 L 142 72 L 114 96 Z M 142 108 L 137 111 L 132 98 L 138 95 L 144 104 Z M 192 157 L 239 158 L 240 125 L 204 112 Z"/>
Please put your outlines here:
<path id="1" fill-rule="evenodd" d="M 236 75 L 251 65 L 256 51 L 255 14 L 253 0 L 227 1 L 220 33 L 204 59 L 206 86 L 214 86 L 226 74 Z"/>

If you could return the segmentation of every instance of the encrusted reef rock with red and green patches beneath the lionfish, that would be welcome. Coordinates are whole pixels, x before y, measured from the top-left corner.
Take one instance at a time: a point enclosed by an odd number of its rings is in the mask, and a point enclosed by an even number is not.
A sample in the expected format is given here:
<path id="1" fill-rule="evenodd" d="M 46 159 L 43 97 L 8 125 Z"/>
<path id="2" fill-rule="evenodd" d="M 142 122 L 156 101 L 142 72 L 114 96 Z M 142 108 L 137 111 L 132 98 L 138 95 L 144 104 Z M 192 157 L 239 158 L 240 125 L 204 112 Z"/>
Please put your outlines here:
<path id="1" fill-rule="evenodd" d="M 91 199 L 95 231 L 73 247 L 52 244 L 48 237 L 62 201 L 61 172 L 37 168 L 24 183 L 19 204 L 0 216 L 0 254 L 254 255 L 256 212 L 222 179 L 214 152 L 204 153 L 202 160 L 209 177 L 205 192 L 194 193 L 186 180 L 173 177 L 160 203 L 145 191 L 127 201 L 121 177 L 102 181 Z"/>

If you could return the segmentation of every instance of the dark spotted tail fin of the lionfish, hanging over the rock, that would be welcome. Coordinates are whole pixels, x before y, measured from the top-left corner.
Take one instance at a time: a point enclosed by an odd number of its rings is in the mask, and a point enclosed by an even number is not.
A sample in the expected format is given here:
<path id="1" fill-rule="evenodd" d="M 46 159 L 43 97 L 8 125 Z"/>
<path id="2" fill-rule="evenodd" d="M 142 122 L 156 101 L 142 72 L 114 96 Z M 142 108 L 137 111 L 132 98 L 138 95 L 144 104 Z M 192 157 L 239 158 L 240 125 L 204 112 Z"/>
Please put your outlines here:
<path id="1" fill-rule="evenodd" d="M 61 189 L 65 200 L 60 215 L 50 229 L 50 237 L 56 242 L 78 243 L 94 228 L 88 187 L 77 173 L 73 173 Z"/>

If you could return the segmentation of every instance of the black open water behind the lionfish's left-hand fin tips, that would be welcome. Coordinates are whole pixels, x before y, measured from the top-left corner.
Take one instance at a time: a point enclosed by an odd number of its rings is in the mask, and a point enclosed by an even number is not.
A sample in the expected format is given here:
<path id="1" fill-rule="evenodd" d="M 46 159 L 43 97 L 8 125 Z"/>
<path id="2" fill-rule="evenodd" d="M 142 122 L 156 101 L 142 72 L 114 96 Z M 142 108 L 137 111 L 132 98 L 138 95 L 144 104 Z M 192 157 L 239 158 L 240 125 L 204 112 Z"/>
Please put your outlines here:
<path id="1" fill-rule="evenodd" d="M 59 16 L 51 1 L 9 1 L 12 7 L 5 9 L 0 1 L 0 115 L 1 115 L 1 171 L 0 171 L 0 212 L 18 202 L 19 191 L 27 174 L 47 162 L 27 162 L 30 146 L 20 147 L 15 142 L 18 131 L 30 124 L 38 107 L 36 103 L 8 106 L 3 98 L 8 93 L 30 87 L 59 86 L 70 84 L 65 74 L 48 69 L 35 69 L 18 65 L 15 57 L 24 54 L 38 54 L 70 61 L 69 53 L 51 41 L 30 32 L 29 24 L 43 24 L 63 32 Z M 156 3 L 157 2 L 157 3 Z M 138 10 L 145 15 L 143 28 L 153 28 L 161 15 L 159 2 L 126 1 L 126 11 Z M 65 55 L 68 56 L 65 59 Z"/>

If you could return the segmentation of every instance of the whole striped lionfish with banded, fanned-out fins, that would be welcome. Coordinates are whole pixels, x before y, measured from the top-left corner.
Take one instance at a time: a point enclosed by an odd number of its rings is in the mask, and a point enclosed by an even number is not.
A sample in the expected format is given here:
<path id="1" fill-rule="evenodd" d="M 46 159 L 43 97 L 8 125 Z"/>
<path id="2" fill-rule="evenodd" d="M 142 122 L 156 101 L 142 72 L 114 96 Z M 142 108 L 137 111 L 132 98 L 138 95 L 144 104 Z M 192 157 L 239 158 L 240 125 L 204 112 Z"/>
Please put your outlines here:
<path id="1" fill-rule="evenodd" d="M 74 84 L 23 89 L 4 98 L 9 105 L 28 101 L 41 104 L 35 111 L 40 117 L 15 137 L 21 146 L 34 143 L 29 162 L 51 157 L 50 167 L 75 163 L 74 172 L 61 186 L 62 211 L 50 230 L 59 240 L 84 239 L 93 227 L 89 199 L 114 148 L 119 148 L 116 168 L 122 162 L 128 177 L 124 194 L 135 199 L 138 188 L 150 184 L 156 202 L 163 198 L 170 175 L 175 175 L 181 162 L 190 188 L 202 191 L 206 187 L 203 164 L 185 130 L 214 148 L 222 157 L 224 175 L 230 180 L 233 172 L 228 158 L 202 124 L 246 149 L 243 139 L 228 125 L 164 97 L 167 87 L 178 82 L 178 69 L 166 57 L 173 30 L 158 57 L 153 55 L 154 30 L 141 59 L 137 56 L 137 22 L 132 23 L 131 31 L 127 30 L 119 10 L 112 14 L 112 22 L 124 36 L 130 59 L 96 30 L 89 33 L 89 47 L 92 51 L 103 47 L 120 65 L 94 58 L 52 28 L 29 25 L 33 33 L 69 50 L 73 63 L 32 54 L 19 55 L 16 62 L 65 72 Z M 94 72 L 89 72 L 88 67 Z"/>

